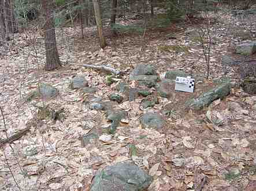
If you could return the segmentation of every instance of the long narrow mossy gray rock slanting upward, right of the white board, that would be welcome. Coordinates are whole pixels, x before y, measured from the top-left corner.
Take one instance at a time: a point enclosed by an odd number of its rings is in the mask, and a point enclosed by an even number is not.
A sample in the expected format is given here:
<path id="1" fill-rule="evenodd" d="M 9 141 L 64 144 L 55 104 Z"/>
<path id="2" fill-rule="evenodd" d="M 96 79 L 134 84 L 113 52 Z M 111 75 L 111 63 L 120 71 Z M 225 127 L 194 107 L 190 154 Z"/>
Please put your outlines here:
<path id="1" fill-rule="evenodd" d="M 185 102 L 185 106 L 193 110 L 201 110 L 204 107 L 209 106 L 214 100 L 218 98 L 224 98 L 231 91 L 231 83 L 224 82 L 220 85 L 217 85 L 212 90 L 207 91 L 206 93 L 201 94 L 198 98 L 192 98 Z"/>

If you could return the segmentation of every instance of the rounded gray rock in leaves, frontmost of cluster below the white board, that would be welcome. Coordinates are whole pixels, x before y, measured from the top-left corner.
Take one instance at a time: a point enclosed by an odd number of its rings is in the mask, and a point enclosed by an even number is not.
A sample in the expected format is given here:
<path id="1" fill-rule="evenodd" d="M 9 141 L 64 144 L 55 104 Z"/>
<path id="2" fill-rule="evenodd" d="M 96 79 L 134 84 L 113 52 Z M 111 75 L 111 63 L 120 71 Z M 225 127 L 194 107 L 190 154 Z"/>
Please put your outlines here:
<path id="1" fill-rule="evenodd" d="M 164 125 L 164 120 L 159 114 L 156 113 L 144 113 L 142 119 L 140 120 L 140 124 L 144 128 L 162 128 Z"/>

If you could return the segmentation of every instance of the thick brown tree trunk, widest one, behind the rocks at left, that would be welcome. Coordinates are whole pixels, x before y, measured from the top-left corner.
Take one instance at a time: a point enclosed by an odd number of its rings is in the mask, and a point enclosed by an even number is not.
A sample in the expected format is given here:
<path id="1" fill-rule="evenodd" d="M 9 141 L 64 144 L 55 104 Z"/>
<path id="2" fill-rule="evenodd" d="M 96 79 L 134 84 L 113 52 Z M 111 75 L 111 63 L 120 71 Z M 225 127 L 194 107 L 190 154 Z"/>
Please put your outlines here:
<path id="1" fill-rule="evenodd" d="M 46 64 L 45 70 L 54 70 L 61 66 L 60 58 L 58 55 L 57 42 L 55 36 L 55 28 L 53 23 L 53 14 L 51 13 L 53 7 L 53 0 L 42 0 L 42 9 L 44 14 L 44 44 L 46 49 Z"/>

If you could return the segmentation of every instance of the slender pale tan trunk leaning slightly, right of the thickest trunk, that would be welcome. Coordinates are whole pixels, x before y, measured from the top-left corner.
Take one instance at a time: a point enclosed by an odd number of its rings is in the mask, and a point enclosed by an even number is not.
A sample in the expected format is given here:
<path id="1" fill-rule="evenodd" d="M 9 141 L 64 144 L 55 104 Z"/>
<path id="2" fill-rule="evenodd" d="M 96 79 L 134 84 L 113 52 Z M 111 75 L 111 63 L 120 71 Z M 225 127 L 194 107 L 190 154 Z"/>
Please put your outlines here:
<path id="1" fill-rule="evenodd" d="M 103 30 L 102 30 L 102 20 L 101 20 L 101 9 L 99 7 L 99 3 L 97 0 L 92 0 L 94 4 L 94 14 L 96 18 L 96 23 L 98 27 L 98 33 L 99 33 L 99 45 L 101 48 L 106 47 L 106 40 L 105 37 L 103 36 Z"/>

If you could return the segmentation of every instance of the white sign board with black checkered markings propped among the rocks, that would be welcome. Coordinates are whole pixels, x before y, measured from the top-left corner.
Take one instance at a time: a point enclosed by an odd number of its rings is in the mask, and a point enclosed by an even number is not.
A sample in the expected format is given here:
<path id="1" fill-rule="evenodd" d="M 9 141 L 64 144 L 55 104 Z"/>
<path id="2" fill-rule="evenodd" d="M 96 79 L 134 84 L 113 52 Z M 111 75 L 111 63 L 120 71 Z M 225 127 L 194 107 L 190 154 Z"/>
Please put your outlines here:
<path id="1" fill-rule="evenodd" d="M 191 77 L 176 77 L 175 90 L 194 92 L 195 79 Z"/>

